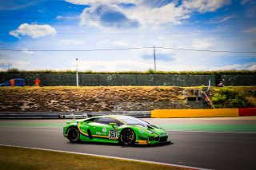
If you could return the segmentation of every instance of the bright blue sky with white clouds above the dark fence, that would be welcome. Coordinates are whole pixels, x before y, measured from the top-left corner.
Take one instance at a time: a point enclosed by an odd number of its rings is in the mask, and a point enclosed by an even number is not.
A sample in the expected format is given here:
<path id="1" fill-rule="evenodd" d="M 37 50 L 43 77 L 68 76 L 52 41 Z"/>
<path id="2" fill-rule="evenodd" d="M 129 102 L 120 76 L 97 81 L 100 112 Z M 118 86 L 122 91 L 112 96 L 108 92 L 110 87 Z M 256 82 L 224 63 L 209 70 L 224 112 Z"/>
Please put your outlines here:
<path id="1" fill-rule="evenodd" d="M 256 51 L 254 0 L 0 4 L 0 70 L 70 70 L 78 58 L 81 71 L 146 71 L 154 69 L 153 46 L 159 71 L 256 69 L 256 53 L 230 53 Z M 117 50 L 79 51 L 87 49 Z"/>

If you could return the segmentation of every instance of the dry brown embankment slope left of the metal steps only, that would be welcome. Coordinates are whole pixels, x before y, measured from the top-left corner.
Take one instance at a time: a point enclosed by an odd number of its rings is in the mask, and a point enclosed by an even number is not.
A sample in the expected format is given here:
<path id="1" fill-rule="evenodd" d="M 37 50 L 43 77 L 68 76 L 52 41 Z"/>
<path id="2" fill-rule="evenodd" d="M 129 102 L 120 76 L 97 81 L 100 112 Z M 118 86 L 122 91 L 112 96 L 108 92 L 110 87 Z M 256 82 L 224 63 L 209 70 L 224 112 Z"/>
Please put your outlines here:
<path id="1" fill-rule="evenodd" d="M 170 103 L 183 107 L 179 87 L 3 87 L 2 112 L 113 111 L 120 103 Z"/>

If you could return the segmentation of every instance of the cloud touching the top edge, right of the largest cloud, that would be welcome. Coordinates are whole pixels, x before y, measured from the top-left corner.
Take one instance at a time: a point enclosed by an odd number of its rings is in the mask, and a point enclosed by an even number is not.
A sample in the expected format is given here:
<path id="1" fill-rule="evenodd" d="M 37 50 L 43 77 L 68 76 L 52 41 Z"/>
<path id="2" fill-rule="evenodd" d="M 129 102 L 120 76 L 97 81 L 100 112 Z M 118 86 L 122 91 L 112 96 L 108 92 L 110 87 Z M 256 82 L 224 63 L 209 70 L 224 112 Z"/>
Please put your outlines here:
<path id="1" fill-rule="evenodd" d="M 213 12 L 229 5 L 230 0 L 185 0 L 182 6 L 187 10 L 197 10 L 200 13 Z"/>

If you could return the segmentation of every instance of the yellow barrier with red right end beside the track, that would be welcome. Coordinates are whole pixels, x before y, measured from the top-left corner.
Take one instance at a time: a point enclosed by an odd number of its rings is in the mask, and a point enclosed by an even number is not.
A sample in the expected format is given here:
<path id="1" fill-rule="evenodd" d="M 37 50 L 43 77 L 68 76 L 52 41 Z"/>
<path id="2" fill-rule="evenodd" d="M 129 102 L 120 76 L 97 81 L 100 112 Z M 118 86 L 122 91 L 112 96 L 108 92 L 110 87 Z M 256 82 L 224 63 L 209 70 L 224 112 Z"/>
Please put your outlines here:
<path id="1" fill-rule="evenodd" d="M 152 118 L 256 116 L 256 108 L 246 109 L 161 109 L 151 112 Z"/>

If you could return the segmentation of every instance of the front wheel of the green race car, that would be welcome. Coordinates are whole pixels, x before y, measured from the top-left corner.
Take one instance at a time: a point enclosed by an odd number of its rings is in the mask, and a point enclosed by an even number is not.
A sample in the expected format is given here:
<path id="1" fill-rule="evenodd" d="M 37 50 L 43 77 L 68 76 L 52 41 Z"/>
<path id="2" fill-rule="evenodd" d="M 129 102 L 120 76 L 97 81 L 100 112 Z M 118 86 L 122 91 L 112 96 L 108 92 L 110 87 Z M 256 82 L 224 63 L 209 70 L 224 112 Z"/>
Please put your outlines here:
<path id="1" fill-rule="evenodd" d="M 124 146 L 130 146 L 135 143 L 136 135 L 133 129 L 125 128 L 120 134 L 120 144 Z"/>

